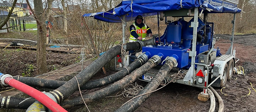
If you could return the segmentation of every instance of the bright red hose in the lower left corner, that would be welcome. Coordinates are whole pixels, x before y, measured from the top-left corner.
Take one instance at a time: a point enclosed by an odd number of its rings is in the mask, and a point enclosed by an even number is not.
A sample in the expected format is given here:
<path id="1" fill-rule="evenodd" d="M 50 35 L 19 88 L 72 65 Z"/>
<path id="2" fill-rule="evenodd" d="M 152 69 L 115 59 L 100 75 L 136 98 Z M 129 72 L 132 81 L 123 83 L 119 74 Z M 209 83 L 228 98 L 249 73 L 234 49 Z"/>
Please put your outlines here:
<path id="1" fill-rule="evenodd" d="M 16 88 L 17 90 L 22 91 L 23 93 L 30 95 L 53 112 L 68 112 L 44 93 L 24 83 L 21 83 L 20 81 L 17 81 L 11 77 L 7 77 L 5 78 L 4 83 Z"/>

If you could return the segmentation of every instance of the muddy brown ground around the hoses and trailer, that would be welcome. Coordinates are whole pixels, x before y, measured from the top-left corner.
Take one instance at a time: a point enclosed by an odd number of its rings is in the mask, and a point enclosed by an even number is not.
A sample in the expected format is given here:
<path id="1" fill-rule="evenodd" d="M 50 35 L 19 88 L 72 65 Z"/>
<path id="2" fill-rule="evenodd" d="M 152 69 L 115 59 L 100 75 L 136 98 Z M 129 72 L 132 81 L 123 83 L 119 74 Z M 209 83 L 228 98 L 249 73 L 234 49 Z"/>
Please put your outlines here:
<path id="1" fill-rule="evenodd" d="M 215 37 L 220 37 L 217 41 L 215 47 L 221 49 L 221 53 L 225 54 L 228 47 L 230 46 L 231 35 L 215 35 Z M 256 34 L 245 34 L 236 35 L 234 37 L 234 47 L 236 47 L 236 58 L 240 59 L 236 66 L 241 66 L 244 69 L 245 74 L 233 74 L 231 80 L 227 81 L 226 88 L 216 88 L 214 89 L 220 94 L 224 101 L 224 111 L 225 112 L 255 112 L 256 111 L 256 91 L 251 87 L 256 89 L 256 76 L 255 76 L 255 66 L 256 66 Z M 6 40 L 0 40 L 0 42 L 6 42 Z M 2 50 L 2 49 L 1 49 Z M 8 51 L 11 52 L 11 51 Z M 26 64 L 34 64 L 35 53 L 29 51 L 19 51 L 8 53 L 7 51 L 0 51 L 1 54 L 1 72 L 19 75 L 26 68 Z M 10 57 L 10 58 L 9 58 Z M 70 64 L 74 63 L 75 57 L 70 55 L 51 55 L 49 56 L 48 63 L 50 65 L 59 65 L 63 67 L 62 63 L 67 62 L 70 59 Z M 5 60 L 5 58 L 8 58 Z M 47 57 L 48 58 L 48 57 Z M 4 60 L 4 61 L 3 61 Z M 52 62 L 52 63 L 51 63 Z M 69 63 L 67 64 L 69 65 Z M 5 67 L 5 68 L 4 68 Z M 4 68 L 4 69 L 2 69 Z M 50 71 L 50 70 L 49 70 Z M 113 70 L 108 71 L 110 74 L 115 72 Z M 33 73 L 35 74 L 35 73 Z M 103 75 L 102 71 L 97 73 L 98 75 L 93 77 L 101 78 L 107 75 Z M 145 87 L 147 84 L 144 81 L 136 81 L 139 85 Z M 97 90 L 97 89 L 94 89 Z M 83 93 L 88 93 L 90 91 L 83 91 Z M 250 95 L 249 90 L 251 91 Z M 135 112 L 207 112 L 210 107 L 210 101 L 202 102 L 197 99 L 197 95 L 202 92 L 199 88 L 191 87 L 188 85 L 170 83 L 164 88 L 151 94 L 148 98 Z M 117 93 L 116 93 L 117 94 Z M 225 94 L 225 95 L 224 95 Z M 79 95 L 79 93 L 74 93 L 74 96 Z M 113 94 L 115 95 L 115 94 Z M 247 95 L 247 96 L 245 96 Z M 245 96 L 245 97 L 244 97 Z M 95 112 L 110 112 L 119 108 L 123 103 L 128 101 L 130 98 L 111 97 L 103 98 L 98 101 L 94 101 L 87 104 L 90 111 Z M 69 112 L 86 112 L 88 111 L 85 106 L 78 106 L 73 108 L 67 108 Z M 17 110 L 24 111 L 24 110 Z M 218 111 L 218 103 L 216 100 L 215 111 Z"/>

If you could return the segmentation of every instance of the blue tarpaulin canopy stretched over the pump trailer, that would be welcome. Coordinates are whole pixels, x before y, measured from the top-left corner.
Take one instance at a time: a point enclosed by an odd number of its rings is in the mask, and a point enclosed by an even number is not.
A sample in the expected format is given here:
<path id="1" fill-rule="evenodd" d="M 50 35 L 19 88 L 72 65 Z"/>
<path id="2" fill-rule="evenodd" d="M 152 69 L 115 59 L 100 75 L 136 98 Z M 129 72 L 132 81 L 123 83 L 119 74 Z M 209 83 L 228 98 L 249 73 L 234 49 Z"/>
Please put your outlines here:
<path id="1" fill-rule="evenodd" d="M 200 7 L 210 13 L 240 13 L 236 4 L 222 0 L 127 0 L 106 12 L 84 14 L 84 17 L 105 22 L 122 22 L 121 16 L 126 15 L 126 22 L 133 21 L 137 15 L 143 17 L 157 15 L 157 12 Z"/>

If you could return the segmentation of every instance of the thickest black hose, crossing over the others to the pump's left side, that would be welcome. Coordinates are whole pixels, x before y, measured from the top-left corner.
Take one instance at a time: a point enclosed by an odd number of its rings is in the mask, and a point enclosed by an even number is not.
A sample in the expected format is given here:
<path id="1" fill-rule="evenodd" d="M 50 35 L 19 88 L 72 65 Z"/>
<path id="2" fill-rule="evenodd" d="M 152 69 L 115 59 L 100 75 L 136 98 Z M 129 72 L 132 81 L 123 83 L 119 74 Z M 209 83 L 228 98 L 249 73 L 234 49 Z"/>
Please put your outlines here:
<path id="1" fill-rule="evenodd" d="M 150 44 L 150 42 L 145 41 L 144 42 L 129 42 L 126 43 L 126 50 L 138 50 L 138 48 L 141 48 L 144 45 Z M 152 41 L 151 41 L 152 42 Z M 143 44 L 141 44 L 143 43 Z M 155 43 L 151 43 L 155 44 Z M 89 66 L 87 66 L 83 71 L 78 73 L 74 78 L 69 80 L 67 83 L 63 84 L 56 90 L 52 91 L 53 95 L 56 96 L 56 99 L 60 99 L 61 102 L 67 97 L 69 97 L 72 93 L 78 90 L 78 84 L 79 86 L 82 86 L 86 83 L 87 80 L 89 80 L 97 71 L 100 70 L 106 63 L 108 63 L 110 60 L 112 60 L 116 55 L 121 53 L 121 45 L 117 45 L 108 51 L 106 51 L 103 55 L 101 55 L 99 58 L 97 58 L 95 61 L 92 62 Z M 76 79 L 77 78 L 77 79 Z"/>

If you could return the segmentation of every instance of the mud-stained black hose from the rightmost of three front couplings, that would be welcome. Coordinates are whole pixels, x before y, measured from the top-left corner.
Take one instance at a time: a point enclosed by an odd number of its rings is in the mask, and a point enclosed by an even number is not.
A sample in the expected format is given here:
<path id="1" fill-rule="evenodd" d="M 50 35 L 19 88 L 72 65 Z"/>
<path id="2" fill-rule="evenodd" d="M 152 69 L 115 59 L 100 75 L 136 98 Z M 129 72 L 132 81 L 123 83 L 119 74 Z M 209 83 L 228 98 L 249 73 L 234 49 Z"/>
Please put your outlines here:
<path id="1" fill-rule="evenodd" d="M 144 101 L 148 99 L 148 97 L 150 97 L 151 93 L 149 92 L 156 90 L 156 88 L 160 85 L 161 81 L 163 81 L 164 78 L 167 76 L 169 71 L 176 66 L 177 66 L 177 59 L 175 57 L 167 57 L 165 64 L 159 70 L 157 75 L 143 88 L 143 90 L 140 91 L 138 95 L 142 95 L 145 93 L 148 93 L 148 94 L 134 98 L 133 100 L 127 102 L 126 104 L 124 104 L 123 106 L 115 110 L 115 112 L 135 111 L 139 106 L 142 105 L 142 103 L 144 103 Z"/>

